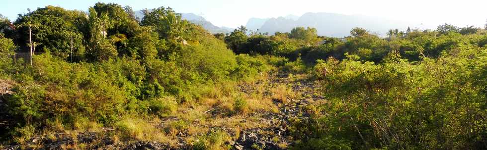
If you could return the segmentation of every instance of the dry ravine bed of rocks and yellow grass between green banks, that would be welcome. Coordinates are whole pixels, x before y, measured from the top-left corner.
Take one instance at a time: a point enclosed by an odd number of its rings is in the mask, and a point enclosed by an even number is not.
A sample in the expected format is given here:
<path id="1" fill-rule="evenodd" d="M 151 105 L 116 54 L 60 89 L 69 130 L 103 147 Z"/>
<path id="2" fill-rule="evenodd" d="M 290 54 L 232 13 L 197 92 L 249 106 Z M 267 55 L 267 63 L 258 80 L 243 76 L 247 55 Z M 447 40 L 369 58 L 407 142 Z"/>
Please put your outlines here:
<path id="1" fill-rule="evenodd" d="M 85 132 L 59 132 L 35 136 L 22 141 L 22 145 L 3 146 L 4 150 L 181 150 L 195 149 L 197 137 L 204 137 L 219 131 L 226 133 L 225 149 L 232 150 L 284 150 L 293 145 L 289 127 L 291 120 L 307 117 L 305 106 L 323 100 L 317 95 L 313 81 L 306 75 L 292 75 L 284 72 L 269 73 L 268 77 L 253 83 L 237 86 L 238 92 L 247 101 L 250 110 L 235 114 L 218 102 L 209 107 L 179 108 L 180 114 L 196 114 L 200 118 L 187 119 L 182 115 L 166 116 L 154 124 L 155 128 L 166 131 L 166 140 L 131 140 L 124 142 L 114 138 L 116 129 L 99 128 Z M 262 98 L 259 98 L 262 97 Z M 258 99 L 257 99 L 258 98 Z M 253 102 L 250 99 L 255 99 Z M 268 103 L 261 102 L 269 100 Z M 270 110 L 265 110 L 270 109 Z M 172 130 L 174 123 L 191 120 L 184 129 Z M 149 126 L 148 128 L 152 128 Z M 205 134 L 206 133 L 206 134 Z M 144 135 L 142 135 L 144 136 Z"/>

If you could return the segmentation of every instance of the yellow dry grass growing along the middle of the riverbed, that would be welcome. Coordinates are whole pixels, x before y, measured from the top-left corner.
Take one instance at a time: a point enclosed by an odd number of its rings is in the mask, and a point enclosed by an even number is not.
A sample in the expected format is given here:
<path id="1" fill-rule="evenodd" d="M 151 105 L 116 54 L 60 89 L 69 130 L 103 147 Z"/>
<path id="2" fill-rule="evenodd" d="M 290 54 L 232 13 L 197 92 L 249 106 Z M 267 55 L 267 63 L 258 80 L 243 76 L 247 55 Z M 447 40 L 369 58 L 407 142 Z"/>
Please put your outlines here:
<path id="1" fill-rule="evenodd" d="M 179 138 L 182 138 L 194 148 L 222 150 L 226 149 L 225 141 L 237 140 L 242 131 L 273 126 L 270 122 L 262 122 L 258 116 L 260 113 L 254 112 L 278 112 L 278 105 L 273 100 L 279 100 L 279 104 L 282 104 L 296 97 L 292 88 L 273 85 L 267 76 L 239 83 L 251 87 L 248 91 L 237 91 L 236 84 L 219 84 L 202 89 L 204 92 L 197 101 L 178 103 L 175 110 L 170 109 L 164 115 L 126 117 L 113 125 L 115 131 L 110 134 L 111 139 L 115 143 L 156 141 L 176 146 Z M 266 92 L 270 92 L 270 95 Z M 77 131 L 95 131 L 102 127 L 82 118 L 72 124 L 72 128 L 66 128 L 59 120 L 50 122 L 49 126 L 50 131 L 62 131 L 73 137 L 78 134 Z M 76 131 L 66 131 L 70 129 Z M 58 138 L 54 134 L 51 137 Z M 279 147 L 287 148 L 287 144 L 280 143 Z M 86 144 L 77 142 L 64 148 L 89 149 Z"/>

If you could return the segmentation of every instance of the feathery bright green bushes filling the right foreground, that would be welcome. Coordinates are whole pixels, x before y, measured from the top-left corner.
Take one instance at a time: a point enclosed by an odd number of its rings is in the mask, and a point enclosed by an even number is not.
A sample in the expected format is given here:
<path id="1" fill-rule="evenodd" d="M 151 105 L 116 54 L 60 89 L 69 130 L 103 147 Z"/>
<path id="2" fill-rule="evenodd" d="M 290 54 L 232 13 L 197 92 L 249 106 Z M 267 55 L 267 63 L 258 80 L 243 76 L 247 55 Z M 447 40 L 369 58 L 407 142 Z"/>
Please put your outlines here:
<path id="1" fill-rule="evenodd" d="M 487 51 L 456 45 L 417 65 L 348 55 L 316 65 L 327 102 L 298 120 L 298 148 L 486 149 Z M 344 145 L 345 144 L 345 145 Z"/>

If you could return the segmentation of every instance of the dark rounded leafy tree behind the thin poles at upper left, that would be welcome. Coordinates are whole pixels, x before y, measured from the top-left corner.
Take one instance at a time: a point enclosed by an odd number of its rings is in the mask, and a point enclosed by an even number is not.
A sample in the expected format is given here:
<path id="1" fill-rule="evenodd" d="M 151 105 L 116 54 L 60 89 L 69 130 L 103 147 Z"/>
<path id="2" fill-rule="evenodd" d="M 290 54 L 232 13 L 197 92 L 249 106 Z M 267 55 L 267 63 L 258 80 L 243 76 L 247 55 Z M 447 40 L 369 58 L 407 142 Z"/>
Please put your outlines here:
<path id="1" fill-rule="evenodd" d="M 81 11 L 66 10 L 56 6 L 46 6 L 38 8 L 35 11 L 19 16 L 15 21 L 16 25 L 34 24 L 35 27 L 31 27 L 31 32 L 35 33 L 31 35 L 32 41 L 39 43 L 36 51 L 49 50 L 56 56 L 67 56 L 65 53 L 69 53 L 71 47 L 71 39 L 66 36 L 66 32 L 81 33 L 81 22 L 84 18 L 84 14 Z M 29 29 L 27 26 L 18 28 L 17 33 L 19 36 L 18 41 L 27 41 L 25 38 L 29 35 Z M 73 41 L 75 45 L 81 46 L 82 41 Z M 28 46 L 24 44 L 18 44 L 21 48 Z"/>

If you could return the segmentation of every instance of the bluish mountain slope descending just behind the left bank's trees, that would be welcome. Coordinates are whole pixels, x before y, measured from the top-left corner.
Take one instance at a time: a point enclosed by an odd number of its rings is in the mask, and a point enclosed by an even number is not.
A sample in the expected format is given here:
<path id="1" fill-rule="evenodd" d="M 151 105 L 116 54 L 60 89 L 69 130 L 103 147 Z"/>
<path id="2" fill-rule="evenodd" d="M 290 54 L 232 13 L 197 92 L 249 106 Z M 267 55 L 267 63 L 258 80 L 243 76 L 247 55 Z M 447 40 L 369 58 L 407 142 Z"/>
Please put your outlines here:
<path id="1" fill-rule="evenodd" d="M 138 17 L 139 20 L 142 20 L 142 18 L 144 18 L 144 12 L 142 10 L 135 11 L 135 16 Z M 197 25 L 201 25 L 203 28 L 205 28 L 212 34 L 230 33 L 233 31 L 232 28 L 215 26 L 210 21 L 207 21 L 205 18 L 203 18 L 202 16 L 196 15 L 194 13 L 181 13 L 181 19 L 188 20 L 189 22 Z"/>

